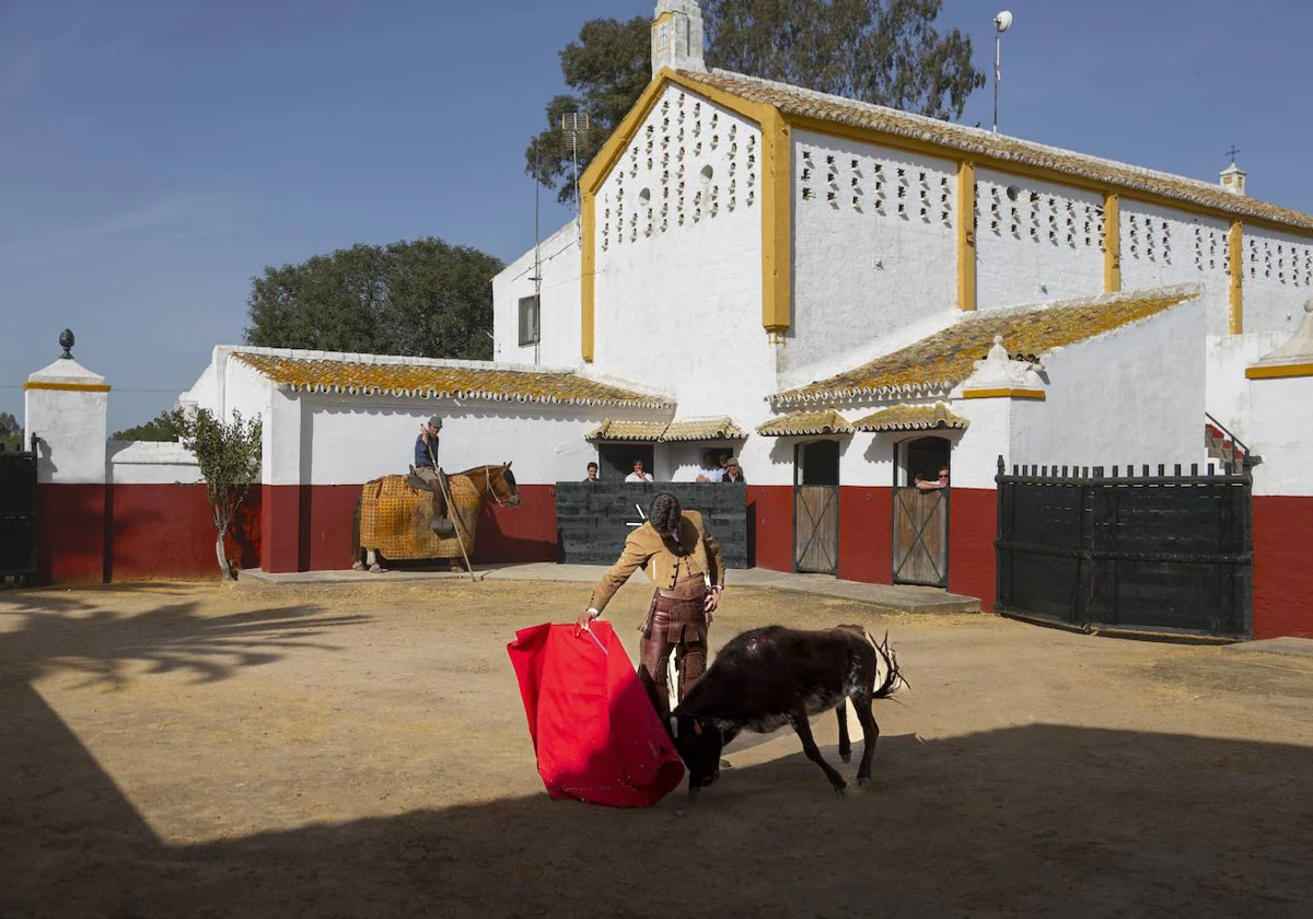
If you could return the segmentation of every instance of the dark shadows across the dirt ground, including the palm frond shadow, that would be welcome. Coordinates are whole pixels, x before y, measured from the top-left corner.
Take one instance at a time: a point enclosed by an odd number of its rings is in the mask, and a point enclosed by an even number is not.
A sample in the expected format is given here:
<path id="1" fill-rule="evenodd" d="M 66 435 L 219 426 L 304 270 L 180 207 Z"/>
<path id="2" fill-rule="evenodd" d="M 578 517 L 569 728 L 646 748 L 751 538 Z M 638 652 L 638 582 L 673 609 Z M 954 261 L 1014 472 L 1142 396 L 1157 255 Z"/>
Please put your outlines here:
<path id="1" fill-rule="evenodd" d="M 886 737 L 874 786 L 844 801 L 779 735 L 777 759 L 725 772 L 696 807 L 488 788 L 471 806 L 171 847 L 29 680 L 125 679 L 133 662 L 225 679 L 356 617 L 41 607 L 0 635 L 4 916 L 1288 915 L 1309 898 L 1313 751 L 1056 725 Z"/>

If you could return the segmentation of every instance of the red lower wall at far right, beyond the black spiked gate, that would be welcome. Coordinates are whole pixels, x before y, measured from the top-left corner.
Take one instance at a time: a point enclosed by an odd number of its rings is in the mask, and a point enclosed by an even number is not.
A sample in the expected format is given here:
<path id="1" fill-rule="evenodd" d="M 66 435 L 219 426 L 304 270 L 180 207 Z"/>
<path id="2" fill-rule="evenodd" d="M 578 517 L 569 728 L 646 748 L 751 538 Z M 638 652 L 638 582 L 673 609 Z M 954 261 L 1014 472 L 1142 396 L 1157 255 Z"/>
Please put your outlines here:
<path id="1" fill-rule="evenodd" d="M 1254 498 L 1254 638 L 1313 638 L 1313 498 Z"/>

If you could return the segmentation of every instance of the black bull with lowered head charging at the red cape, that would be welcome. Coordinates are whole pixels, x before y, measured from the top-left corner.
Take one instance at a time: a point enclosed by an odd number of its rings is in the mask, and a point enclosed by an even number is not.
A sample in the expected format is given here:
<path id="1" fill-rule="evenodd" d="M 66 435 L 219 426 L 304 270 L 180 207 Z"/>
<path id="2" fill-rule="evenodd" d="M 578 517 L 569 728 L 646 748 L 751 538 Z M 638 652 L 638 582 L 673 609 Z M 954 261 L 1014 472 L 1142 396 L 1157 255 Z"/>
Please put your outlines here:
<path id="1" fill-rule="evenodd" d="M 767 734 L 790 723 L 807 759 L 821 767 L 843 797 L 848 784 L 825 761 L 811 737 L 809 718 L 826 709 L 839 717 L 839 756 L 852 756 L 846 702 L 861 722 L 863 751 L 857 785 L 871 782 L 880 726 L 871 713 L 873 698 L 890 696 L 901 684 L 888 635 L 877 645 L 860 625 L 800 631 L 773 625 L 730 641 L 716 663 L 671 714 L 671 734 L 684 765 L 688 793 L 720 779 L 721 751 L 747 729 Z"/>

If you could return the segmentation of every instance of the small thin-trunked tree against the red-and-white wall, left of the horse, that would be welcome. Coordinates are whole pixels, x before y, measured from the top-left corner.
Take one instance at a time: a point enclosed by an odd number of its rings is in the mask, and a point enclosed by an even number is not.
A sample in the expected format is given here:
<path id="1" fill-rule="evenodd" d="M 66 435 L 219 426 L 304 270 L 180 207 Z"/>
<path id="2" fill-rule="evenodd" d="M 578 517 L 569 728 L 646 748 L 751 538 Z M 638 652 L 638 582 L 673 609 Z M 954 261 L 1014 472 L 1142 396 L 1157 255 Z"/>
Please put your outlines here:
<path id="1" fill-rule="evenodd" d="M 194 414 L 176 408 L 169 414 L 168 424 L 183 446 L 196 454 L 214 517 L 214 554 L 219 570 L 236 578 L 223 541 L 247 491 L 260 478 L 263 424 L 259 417 L 244 421 L 235 410 L 232 420 L 225 423 L 209 408 L 198 408 Z"/>

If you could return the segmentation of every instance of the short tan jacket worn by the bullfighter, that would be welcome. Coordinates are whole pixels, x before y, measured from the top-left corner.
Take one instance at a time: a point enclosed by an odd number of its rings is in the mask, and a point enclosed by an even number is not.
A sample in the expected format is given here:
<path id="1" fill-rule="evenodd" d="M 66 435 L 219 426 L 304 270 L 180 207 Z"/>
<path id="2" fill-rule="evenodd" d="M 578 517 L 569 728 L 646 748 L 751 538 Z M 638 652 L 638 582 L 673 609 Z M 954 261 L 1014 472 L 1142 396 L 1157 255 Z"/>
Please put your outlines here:
<path id="1" fill-rule="evenodd" d="M 706 575 L 712 587 L 725 587 L 725 559 L 721 546 L 702 523 L 697 511 L 684 511 L 679 521 L 679 546 L 663 540 L 651 523 L 646 523 L 625 540 L 620 561 L 597 582 L 588 605 L 597 612 L 607 608 L 629 576 L 642 568 L 653 586 L 670 589 L 691 575 Z"/>

